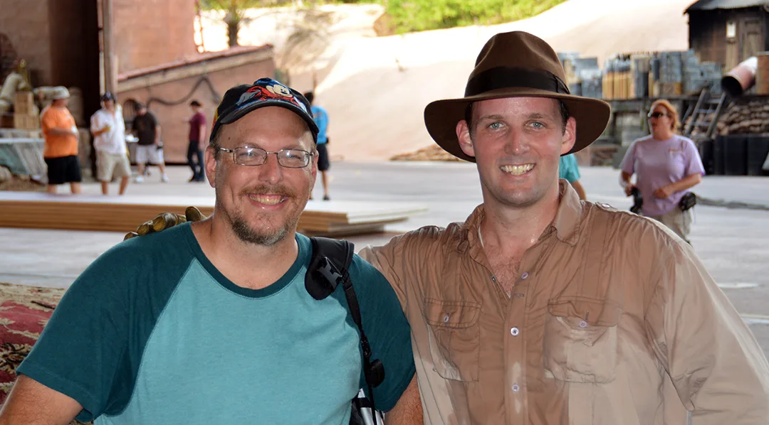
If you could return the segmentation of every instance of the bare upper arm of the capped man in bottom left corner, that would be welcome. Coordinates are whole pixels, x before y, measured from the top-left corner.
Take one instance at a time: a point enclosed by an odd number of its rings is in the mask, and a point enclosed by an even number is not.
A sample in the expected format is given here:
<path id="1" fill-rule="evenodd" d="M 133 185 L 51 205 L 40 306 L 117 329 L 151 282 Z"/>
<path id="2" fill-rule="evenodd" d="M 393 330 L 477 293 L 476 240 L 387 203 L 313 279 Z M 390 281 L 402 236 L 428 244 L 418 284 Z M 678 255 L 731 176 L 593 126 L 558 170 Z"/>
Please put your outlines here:
<path id="1" fill-rule="evenodd" d="M 22 375 L 0 410 L 0 425 L 65 425 L 82 408 L 74 398 Z"/>

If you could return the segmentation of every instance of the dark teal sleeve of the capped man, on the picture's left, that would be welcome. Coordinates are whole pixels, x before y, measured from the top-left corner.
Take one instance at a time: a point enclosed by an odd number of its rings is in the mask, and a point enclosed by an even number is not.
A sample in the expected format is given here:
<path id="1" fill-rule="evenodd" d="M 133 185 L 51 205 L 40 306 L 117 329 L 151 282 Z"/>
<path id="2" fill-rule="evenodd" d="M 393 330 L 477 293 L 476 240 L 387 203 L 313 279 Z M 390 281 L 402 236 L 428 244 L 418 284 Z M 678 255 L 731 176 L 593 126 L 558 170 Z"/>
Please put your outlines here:
<path id="1" fill-rule="evenodd" d="M 70 286 L 18 367 L 19 374 L 77 400 L 83 407 L 78 414 L 82 421 L 108 407 L 127 347 L 125 296 L 112 279 L 126 272 L 125 262 L 108 257 L 97 259 Z"/>

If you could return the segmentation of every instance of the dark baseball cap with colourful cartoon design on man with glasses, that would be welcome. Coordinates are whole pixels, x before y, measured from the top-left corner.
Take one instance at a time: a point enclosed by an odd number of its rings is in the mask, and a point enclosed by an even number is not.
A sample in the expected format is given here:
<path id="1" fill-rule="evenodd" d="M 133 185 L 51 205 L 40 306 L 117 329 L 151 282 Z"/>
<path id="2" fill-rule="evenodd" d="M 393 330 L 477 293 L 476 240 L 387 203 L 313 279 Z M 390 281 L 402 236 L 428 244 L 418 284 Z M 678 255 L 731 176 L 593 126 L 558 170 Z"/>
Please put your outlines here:
<path id="1" fill-rule="evenodd" d="M 285 107 L 297 114 L 310 127 L 312 140 L 318 142 L 318 126 L 312 119 L 310 103 L 298 91 L 272 78 L 259 78 L 254 84 L 229 89 L 216 107 L 209 139 L 214 140 L 222 125 L 232 124 L 252 110 L 268 106 Z"/>

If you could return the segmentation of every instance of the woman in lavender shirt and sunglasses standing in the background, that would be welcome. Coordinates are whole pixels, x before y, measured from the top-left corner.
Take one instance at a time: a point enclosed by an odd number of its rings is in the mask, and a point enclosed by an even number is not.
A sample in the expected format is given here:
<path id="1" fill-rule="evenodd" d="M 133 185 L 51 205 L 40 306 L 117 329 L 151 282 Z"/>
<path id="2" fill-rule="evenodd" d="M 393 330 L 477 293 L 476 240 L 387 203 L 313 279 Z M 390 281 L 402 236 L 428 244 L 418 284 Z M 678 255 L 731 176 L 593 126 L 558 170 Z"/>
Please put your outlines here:
<path id="1" fill-rule="evenodd" d="M 662 222 L 689 242 L 691 209 L 681 211 L 678 203 L 701 182 L 702 160 L 694 142 L 677 134 L 678 112 L 670 102 L 654 101 L 648 119 L 651 135 L 635 140 L 625 153 L 620 183 L 628 196 L 634 187 L 641 190 L 644 216 Z"/>

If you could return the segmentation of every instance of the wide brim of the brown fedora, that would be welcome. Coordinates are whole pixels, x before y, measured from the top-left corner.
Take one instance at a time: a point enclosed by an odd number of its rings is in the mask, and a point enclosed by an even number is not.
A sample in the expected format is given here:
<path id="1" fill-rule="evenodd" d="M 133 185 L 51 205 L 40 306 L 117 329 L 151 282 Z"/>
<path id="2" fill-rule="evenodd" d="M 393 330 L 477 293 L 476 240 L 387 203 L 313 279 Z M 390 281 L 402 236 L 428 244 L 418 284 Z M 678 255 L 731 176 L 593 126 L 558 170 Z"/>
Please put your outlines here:
<path id="1" fill-rule="evenodd" d="M 583 150 L 601 137 L 611 115 L 611 107 L 603 100 L 528 87 L 506 87 L 461 99 L 431 102 L 424 108 L 424 125 L 435 143 L 438 143 L 443 150 L 461 160 L 474 163 L 475 157 L 464 153 L 459 146 L 457 124 L 464 120 L 464 113 L 469 104 L 479 100 L 503 97 L 550 97 L 564 102 L 569 116 L 577 121 L 577 140 L 574 141 L 574 147 L 568 153 Z"/>

